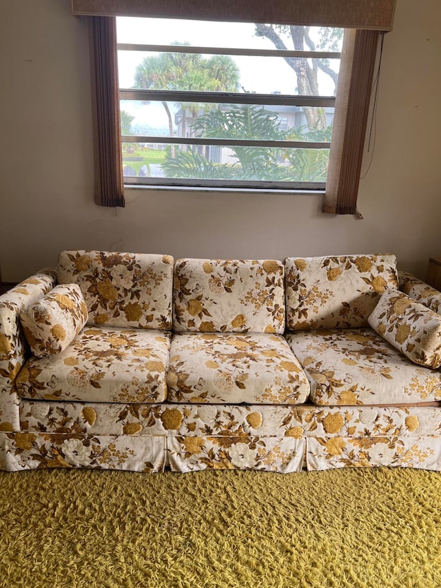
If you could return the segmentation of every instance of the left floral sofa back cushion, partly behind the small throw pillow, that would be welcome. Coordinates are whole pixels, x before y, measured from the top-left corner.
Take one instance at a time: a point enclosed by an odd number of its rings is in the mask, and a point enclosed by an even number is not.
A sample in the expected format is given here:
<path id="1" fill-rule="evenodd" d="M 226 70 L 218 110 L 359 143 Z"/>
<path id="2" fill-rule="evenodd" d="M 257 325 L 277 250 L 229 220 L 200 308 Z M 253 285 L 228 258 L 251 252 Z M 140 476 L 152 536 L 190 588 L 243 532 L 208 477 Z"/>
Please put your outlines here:
<path id="1" fill-rule="evenodd" d="M 63 251 L 59 283 L 76 283 L 90 325 L 172 328 L 173 258 L 170 255 Z"/>

